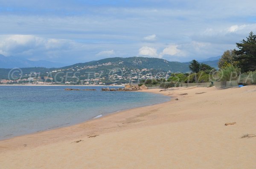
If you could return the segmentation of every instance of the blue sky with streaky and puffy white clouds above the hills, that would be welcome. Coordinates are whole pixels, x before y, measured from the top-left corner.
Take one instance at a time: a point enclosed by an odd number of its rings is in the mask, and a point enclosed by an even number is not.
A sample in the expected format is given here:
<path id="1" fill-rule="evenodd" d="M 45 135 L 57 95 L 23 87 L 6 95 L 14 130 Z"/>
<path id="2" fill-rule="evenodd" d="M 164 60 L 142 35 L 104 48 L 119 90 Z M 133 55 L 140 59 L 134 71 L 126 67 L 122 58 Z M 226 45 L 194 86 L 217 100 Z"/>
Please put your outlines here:
<path id="1" fill-rule="evenodd" d="M 0 0 L 0 54 L 65 64 L 107 57 L 187 62 L 256 32 L 255 0 Z"/>

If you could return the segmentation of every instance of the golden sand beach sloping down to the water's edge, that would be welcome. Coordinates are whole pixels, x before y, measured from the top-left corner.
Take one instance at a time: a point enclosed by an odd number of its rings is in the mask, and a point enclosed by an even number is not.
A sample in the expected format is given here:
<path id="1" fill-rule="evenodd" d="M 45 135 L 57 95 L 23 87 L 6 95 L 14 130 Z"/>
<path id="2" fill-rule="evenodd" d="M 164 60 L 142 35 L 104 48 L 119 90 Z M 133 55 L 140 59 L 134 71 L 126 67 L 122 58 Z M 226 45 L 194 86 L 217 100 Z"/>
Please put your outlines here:
<path id="1" fill-rule="evenodd" d="M 256 168 L 256 137 L 241 138 L 256 135 L 256 86 L 146 92 L 173 99 L 2 140 L 0 168 Z M 236 123 L 224 125 L 232 122 Z"/>

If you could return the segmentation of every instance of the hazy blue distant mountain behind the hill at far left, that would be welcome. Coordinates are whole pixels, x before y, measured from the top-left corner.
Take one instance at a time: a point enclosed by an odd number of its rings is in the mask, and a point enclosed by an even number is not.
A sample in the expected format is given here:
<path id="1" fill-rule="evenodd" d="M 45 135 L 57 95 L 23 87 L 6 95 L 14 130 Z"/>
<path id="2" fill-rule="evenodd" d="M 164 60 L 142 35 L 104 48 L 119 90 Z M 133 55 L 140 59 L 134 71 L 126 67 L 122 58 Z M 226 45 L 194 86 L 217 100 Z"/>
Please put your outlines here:
<path id="1" fill-rule="evenodd" d="M 0 68 L 27 68 L 27 67 L 61 67 L 61 63 L 49 62 L 46 60 L 31 61 L 20 57 L 6 57 L 0 54 Z"/>

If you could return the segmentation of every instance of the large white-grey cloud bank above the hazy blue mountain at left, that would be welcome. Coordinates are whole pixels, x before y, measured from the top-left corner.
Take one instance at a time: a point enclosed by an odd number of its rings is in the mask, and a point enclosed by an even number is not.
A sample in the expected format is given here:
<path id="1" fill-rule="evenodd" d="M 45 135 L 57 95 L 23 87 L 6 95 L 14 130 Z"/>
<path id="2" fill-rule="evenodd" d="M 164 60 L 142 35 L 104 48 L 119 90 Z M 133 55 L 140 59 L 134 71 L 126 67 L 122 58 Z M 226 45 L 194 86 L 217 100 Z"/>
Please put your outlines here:
<path id="1" fill-rule="evenodd" d="M 63 53 L 75 49 L 72 40 L 48 39 L 35 35 L 2 35 L 0 36 L 0 54 L 44 60 L 63 57 Z M 81 46 L 81 45 L 80 45 Z"/>

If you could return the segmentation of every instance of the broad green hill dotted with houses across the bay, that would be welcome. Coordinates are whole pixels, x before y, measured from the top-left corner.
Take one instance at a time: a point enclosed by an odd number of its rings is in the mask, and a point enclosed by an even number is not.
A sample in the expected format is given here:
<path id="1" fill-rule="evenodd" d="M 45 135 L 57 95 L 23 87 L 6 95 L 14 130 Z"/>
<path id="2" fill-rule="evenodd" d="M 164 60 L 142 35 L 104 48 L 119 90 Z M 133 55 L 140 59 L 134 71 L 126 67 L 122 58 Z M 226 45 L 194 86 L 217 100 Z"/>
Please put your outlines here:
<path id="1" fill-rule="evenodd" d="M 214 61 L 210 62 L 211 66 L 216 64 Z M 22 79 L 21 82 L 14 83 L 27 83 L 29 77 L 33 77 L 34 81 L 49 83 L 111 84 L 117 80 L 119 83 L 127 83 L 131 79 L 136 82 L 140 78 L 166 78 L 171 72 L 189 72 L 188 64 L 150 57 L 112 57 L 61 68 L 0 69 L 0 79 Z"/>

